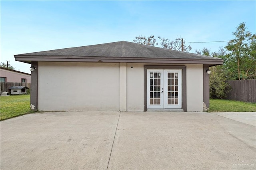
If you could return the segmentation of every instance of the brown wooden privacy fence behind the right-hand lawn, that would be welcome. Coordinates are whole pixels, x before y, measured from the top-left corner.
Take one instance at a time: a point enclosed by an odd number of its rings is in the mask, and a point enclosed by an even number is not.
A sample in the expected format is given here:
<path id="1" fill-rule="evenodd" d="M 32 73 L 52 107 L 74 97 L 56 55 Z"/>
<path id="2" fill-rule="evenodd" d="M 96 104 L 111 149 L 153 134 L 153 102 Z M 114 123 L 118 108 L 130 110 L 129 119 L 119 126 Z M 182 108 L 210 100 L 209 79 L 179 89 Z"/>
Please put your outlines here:
<path id="1" fill-rule="evenodd" d="M 227 81 L 232 90 L 227 99 L 256 103 L 256 79 Z"/>

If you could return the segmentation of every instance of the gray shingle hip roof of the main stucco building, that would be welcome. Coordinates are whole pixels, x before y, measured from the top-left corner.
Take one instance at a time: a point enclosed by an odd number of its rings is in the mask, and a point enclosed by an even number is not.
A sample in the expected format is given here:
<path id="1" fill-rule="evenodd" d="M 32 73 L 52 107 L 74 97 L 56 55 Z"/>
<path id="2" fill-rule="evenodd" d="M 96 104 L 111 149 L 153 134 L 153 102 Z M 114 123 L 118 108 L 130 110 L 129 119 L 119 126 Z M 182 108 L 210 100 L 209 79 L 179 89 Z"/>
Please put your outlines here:
<path id="1" fill-rule="evenodd" d="M 152 47 L 132 42 L 112 42 L 82 47 L 55 49 L 16 56 L 81 56 L 81 57 L 139 57 L 139 58 L 173 58 L 173 59 L 219 59 L 195 53 L 187 53 Z"/>

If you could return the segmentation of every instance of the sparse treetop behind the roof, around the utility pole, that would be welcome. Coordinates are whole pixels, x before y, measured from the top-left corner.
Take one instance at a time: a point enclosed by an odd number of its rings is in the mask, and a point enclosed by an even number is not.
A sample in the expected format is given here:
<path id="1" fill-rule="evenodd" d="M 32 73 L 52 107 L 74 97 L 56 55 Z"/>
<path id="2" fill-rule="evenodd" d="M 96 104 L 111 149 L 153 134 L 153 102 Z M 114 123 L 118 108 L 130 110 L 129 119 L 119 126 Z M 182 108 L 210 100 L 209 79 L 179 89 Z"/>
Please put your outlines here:
<path id="1" fill-rule="evenodd" d="M 160 44 L 162 48 L 182 51 L 182 38 L 178 38 L 177 36 L 176 39 L 172 41 L 168 40 L 168 38 L 158 38 L 160 39 Z M 191 49 L 192 47 L 190 45 L 186 46 L 185 41 L 183 41 L 183 51 L 189 52 Z"/>

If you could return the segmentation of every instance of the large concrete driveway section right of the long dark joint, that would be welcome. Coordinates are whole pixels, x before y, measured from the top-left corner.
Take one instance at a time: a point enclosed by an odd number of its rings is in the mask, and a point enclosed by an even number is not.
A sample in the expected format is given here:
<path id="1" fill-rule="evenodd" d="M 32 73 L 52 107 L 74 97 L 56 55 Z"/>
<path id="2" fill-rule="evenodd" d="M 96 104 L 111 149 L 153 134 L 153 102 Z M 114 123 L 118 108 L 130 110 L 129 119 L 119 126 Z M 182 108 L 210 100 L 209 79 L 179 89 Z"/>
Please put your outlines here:
<path id="1" fill-rule="evenodd" d="M 209 113 L 126 112 L 109 169 L 255 169 L 255 153 L 255 127 L 244 123 Z"/>

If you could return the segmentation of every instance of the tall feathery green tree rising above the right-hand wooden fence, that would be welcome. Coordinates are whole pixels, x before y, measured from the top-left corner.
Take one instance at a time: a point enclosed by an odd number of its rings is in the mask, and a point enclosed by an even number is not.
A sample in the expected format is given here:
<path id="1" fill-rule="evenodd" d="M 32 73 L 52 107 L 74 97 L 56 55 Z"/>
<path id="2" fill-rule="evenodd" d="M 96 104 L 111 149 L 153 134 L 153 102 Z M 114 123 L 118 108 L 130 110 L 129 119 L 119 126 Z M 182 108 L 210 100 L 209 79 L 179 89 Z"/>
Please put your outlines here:
<path id="1" fill-rule="evenodd" d="M 224 59 L 227 69 L 229 69 L 230 79 L 255 79 L 256 78 L 256 34 L 247 31 L 245 23 L 236 27 L 232 33 L 234 40 L 230 40 L 226 45 L 229 51 Z"/>

